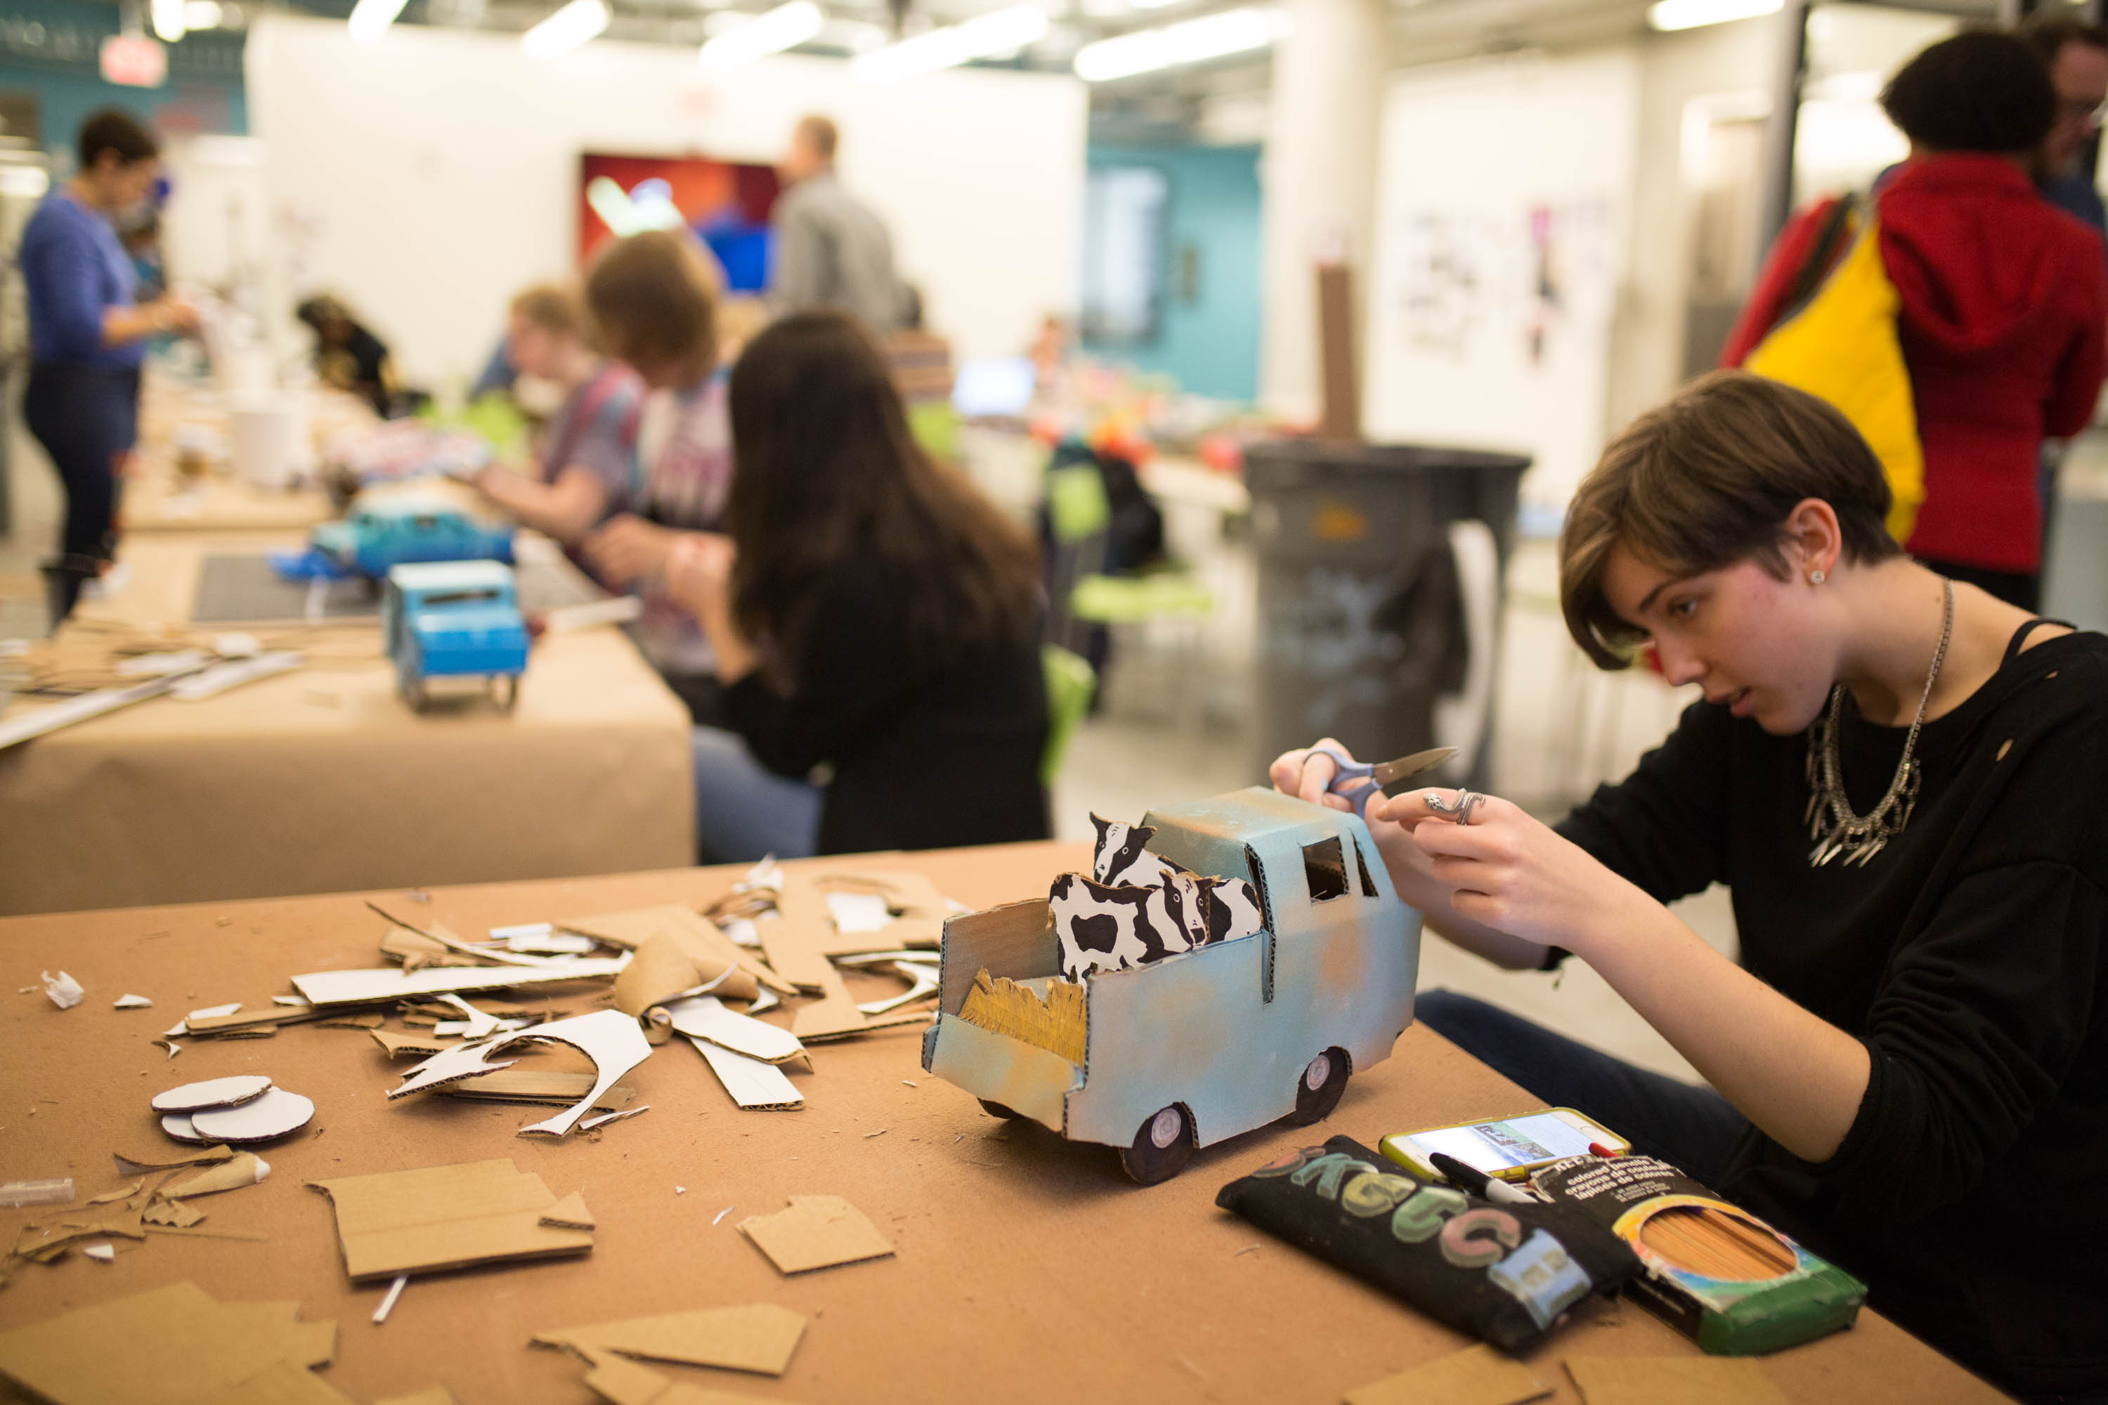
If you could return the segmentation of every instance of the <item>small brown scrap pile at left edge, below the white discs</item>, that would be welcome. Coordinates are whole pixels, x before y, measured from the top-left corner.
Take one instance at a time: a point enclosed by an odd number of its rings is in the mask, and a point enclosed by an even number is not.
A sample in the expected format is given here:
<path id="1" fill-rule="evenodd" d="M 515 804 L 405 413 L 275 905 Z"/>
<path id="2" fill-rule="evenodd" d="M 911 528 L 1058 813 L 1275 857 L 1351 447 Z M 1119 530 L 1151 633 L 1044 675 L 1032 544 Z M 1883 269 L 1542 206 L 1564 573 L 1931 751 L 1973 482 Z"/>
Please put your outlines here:
<path id="1" fill-rule="evenodd" d="M 240 1230 L 200 1230 L 207 1211 L 190 1201 L 255 1186 L 270 1175 L 270 1163 L 255 1152 L 211 1146 L 167 1161 L 118 1156 L 116 1190 L 89 1196 L 82 1209 L 59 1209 L 21 1228 L 6 1258 L 0 1258 L 0 1287 L 25 1264 L 55 1264 L 72 1249 L 112 1262 L 116 1241 L 141 1243 L 148 1234 L 204 1234 L 211 1239 L 261 1239 Z M 148 1184 L 152 1182 L 152 1184 Z"/>

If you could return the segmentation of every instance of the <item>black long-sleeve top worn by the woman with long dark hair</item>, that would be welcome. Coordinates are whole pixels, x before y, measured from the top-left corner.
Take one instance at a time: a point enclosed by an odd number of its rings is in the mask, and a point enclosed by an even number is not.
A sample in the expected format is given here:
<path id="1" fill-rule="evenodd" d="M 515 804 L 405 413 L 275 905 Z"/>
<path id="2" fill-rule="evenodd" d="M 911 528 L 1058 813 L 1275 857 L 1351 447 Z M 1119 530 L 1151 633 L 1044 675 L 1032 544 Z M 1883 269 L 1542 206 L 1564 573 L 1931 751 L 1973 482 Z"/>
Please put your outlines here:
<path id="1" fill-rule="evenodd" d="M 1050 834 L 1037 638 L 917 670 L 900 592 L 879 565 L 845 565 L 828 581 L 788 695 L 755 672 L 725 689 L 725 714 L 769 771 L 833 765 L 820 853 Z"/>

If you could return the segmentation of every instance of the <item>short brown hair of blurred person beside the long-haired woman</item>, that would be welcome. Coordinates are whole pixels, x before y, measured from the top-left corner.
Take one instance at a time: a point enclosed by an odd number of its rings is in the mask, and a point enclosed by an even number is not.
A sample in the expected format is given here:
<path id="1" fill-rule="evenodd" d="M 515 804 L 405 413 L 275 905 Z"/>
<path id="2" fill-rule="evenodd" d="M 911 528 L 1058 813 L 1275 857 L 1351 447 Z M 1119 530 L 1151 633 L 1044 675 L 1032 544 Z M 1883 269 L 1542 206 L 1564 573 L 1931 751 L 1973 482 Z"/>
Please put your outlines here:
<path id="1" fill-rule="evenodd" d="M 717 276 L 687 234 L 645 230 L 603 249 L 586 305 L 601 345 L 637 369 L 717 362 Z"/>

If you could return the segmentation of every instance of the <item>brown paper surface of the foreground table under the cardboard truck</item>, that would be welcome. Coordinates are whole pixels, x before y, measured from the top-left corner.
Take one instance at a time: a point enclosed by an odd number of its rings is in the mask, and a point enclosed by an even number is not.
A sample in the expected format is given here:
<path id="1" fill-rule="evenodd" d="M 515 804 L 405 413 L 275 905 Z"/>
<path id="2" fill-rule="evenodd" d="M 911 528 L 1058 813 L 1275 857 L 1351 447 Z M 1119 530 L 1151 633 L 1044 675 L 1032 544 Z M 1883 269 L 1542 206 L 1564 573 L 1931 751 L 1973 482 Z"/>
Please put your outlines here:
<path id="1" fill-rule="evenodd" d="M 820 859 L 818 866 L 841 864 Z M 1088 864 L 1081 845 L 1006 845 L 883 855 L 974 908 L 1046 891 Z M 799 864 L 795 868 L 809 868 Z M 675 870 L 432 891 L 373 893 L 409 921 L 457 933 L 700 904 L 734 870 Z M 183 1011 L 264 1005 L 289 975 L 375 965 L 382 921 L 360 895 L 198 904 L 0 921 L 0 1180 L 72 1175 L 89 1196 L 118 1184 L 110 1154 L 167 1142 L 148 1097 L 175 1083 L 268 1072 L 316 1102 L 314 1125 L 261 1148 L 274 1171 L 200 1203 L 200 1228 L 268 1243 L 150 1236 L 103 1266 L 74 1253 L 25 1266 L 0 1289 L 0 1327 L 63 1308 L 196 1281 L 221 1300 L 293 1300 L 335 1319 L 323 1376 L 358 1401 L 445 1382 L 464 1405 L 584 1405 L 573 1359 L 529 1348 L 542 1329 L 706 1306 L 774 1302 L 814 1321 L 782 1380 L 656 1367 L 698 1386 L 807 1405 L 890 1401 L 1223 1401 L 1330 1405 L 1345 1390 L 1467 1342 L 1431 1319 L 1267 1239 L 1214 1207 L 1252 1167 L 1347 1133 L 1535 1108 L 1522 1089 L 1419 1026 L 1355 1072 L 1318 1127 L 1273 1125 L 1199 1152 L 1176 1180 L 1138 1188 L 1107 1148 L 999 1123 L 919 1066 L 919 1028 L 812 1051 L 795 1112 L 742 1112 L 702 1057 L 672 1043 L 626 1074 L 643 1116 L 599 1142 L 519 1137 L 531 1108 L 432 1100 L 390 1106 L 390 1064 L 356 1030 L 287 1026 L 274 1038 L 192 1041 L 171 1064 L 148 1043 Z M 36 973 L 65 967 L 86 1001 L 59 1011 Z M 30 994 L 15 986 L 36 984 Z M 898 984 L 890 984 L 898 988 Z M 137 992 L 154 1009 L 114 1011 Z M 32 1114 L 34 1110 L 34 1114 Z M 877 1135 L 883 1133 L 883 1135 Z M 582 1190 L 599 1220 L 592 1253 L 413 1279 L 386 1325 L 382 1287 L 350 1289 L 329 1203 L 301 1182 L 510 1156 L 559 1194 Z M 677 1194 L 685 1186 L 685 1194 Z M 738 1232 L 790 1194 L 839 1194 L 885 1230 L 890 1260 L 782 1279 Z M 719 1224 L 721 1209 L 734 1207 Z M 0 1234 L 48 1211 L 0 1211 Z M 124 1243 L 124 1241 L 120 1241 Z M 1256 1245 L 1256 1247 L 1254 1247 Z M 1663 1357 L 1697 1348 L 1634 1304 L 1592 1306 L 1528 1359 L 1575 1401 L 1568 1357 Z M 1764 1359 L 1794 1401 L 1851 1405 L 1996 1401 L 1990 1386 L 1874 1312 L 1851 1331 Z M 0 1386 L 4 1390 L 4 1386 Z"/>

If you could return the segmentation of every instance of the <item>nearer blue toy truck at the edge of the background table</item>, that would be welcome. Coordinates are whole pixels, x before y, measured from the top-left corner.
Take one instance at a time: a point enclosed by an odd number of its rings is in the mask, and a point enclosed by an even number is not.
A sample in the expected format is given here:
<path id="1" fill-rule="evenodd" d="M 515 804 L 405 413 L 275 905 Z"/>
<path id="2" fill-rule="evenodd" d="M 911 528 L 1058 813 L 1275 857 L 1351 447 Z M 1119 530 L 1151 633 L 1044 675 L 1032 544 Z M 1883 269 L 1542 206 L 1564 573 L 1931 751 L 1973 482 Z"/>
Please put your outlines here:
<path id="1" fill-rule="evenodd" d="M 512 567 L 495 560 L 413 562 L 388 571 L 382 636 L 403 701 L 424 708 L 430 678 L 481 676 L 508 712 L 527 670 L 527 619 Z"/>

